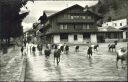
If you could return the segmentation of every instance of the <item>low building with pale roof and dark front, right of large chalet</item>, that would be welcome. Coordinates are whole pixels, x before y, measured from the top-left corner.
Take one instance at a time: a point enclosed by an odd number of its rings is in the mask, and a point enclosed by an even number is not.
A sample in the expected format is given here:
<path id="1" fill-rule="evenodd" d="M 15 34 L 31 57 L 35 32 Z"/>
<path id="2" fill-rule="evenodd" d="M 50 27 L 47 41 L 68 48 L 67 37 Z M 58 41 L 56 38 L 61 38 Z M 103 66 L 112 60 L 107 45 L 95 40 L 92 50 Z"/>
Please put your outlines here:
<path id="1" fill-rule="evenodd" d="M 114 42 L 116 40 L 121 40 L 122 37 L 123 30 L 114 28 L 112 26 L 98 27 L 98 42 Z"/>

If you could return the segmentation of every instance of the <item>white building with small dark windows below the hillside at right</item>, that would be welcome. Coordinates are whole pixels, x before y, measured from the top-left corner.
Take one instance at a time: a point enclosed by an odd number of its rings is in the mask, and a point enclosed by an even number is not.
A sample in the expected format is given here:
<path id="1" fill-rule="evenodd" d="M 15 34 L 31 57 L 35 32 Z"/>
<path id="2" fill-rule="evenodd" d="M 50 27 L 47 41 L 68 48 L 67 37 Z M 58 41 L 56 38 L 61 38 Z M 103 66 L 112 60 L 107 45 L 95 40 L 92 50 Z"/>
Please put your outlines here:
<path id="1" fill-rule="evenodd" d="M 115 21 L 111 21 L 111 22 L 105 22 L 105 23 L 102 24 L 102 26 L 103 27 L 112 26 L 112 27 L 115 27 L 115 28 L 119 29 L 119 28 L 121 28 L 123 26 L 126 26 L 127 22 L 128 22 L 127 19 L 120 19 L 120 20 L 115 20 Z"/>

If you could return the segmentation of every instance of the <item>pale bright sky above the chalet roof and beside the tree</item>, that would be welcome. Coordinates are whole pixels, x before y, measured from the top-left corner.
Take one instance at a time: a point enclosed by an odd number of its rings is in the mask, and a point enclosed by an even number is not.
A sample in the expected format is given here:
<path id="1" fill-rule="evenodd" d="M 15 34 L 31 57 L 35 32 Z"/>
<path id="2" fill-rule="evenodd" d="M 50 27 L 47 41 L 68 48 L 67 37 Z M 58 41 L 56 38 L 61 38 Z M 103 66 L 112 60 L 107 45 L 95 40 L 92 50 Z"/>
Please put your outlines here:
<path id="1" fill-rule="evenodd" d="M 28 2 L 26 4 L 26 9 L 25 7 L 21 8 L 21 12 L 26 12 L 29 11 L 29 15 L 23 20 L 22 25 L 24 31 L 29 30 L 32 28 L 32 23 L 37 22 L 38 18 L 43 14 L 44 10 L 55 10 L 55 11 L 60 11 L 63 10 L 67 7 L 70 7 L 75 4 L 79 4 L 83 7 L 86 5 L 92 6 L 95 5 L 98 2 L 98 0 L 59 0 L 59 1 L 34 1 L 33 2 Z"/>

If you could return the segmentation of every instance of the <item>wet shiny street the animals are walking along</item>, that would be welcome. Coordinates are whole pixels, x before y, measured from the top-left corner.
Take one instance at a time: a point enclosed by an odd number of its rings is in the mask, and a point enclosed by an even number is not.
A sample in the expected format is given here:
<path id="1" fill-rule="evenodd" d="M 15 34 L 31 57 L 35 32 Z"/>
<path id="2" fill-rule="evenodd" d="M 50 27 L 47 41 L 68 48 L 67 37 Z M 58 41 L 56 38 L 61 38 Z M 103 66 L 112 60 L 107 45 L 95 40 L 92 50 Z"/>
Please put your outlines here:
<path id="1" fill-rule="evenodd" d="M 28 45 L 29 46 L 29 45 Z M 127 68 L 122 69 L 120 62 L 116 68 L 116 54 L 108 51 L 108 44 L 99 44 L 91 59 L 87 57 L 87 46 L 80 46 L 79 52 L 70 47 L 69 55 L 62 54 L 57 66 L 53 53 L 45 58 L 43 51 L 33 55 L 28 47 L 26 81 L 127 81 Z M 119 43 L 117 49 L 126 47 Z"/>

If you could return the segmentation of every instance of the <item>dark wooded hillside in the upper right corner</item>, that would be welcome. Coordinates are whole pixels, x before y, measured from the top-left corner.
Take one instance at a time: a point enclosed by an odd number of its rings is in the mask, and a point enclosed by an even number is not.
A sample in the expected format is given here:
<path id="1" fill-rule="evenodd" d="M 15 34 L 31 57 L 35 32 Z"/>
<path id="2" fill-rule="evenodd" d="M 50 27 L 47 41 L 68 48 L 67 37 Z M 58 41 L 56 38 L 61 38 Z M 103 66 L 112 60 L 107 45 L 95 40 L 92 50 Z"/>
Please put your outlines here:
<path id="1" fill-rule="evenodd" d="M 93 11 L 104 16 L 104 21 L 128 18 L 128 0 L 99 0 L 91 7 Z"/>

